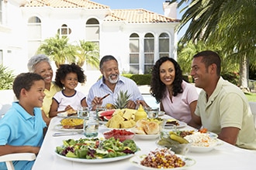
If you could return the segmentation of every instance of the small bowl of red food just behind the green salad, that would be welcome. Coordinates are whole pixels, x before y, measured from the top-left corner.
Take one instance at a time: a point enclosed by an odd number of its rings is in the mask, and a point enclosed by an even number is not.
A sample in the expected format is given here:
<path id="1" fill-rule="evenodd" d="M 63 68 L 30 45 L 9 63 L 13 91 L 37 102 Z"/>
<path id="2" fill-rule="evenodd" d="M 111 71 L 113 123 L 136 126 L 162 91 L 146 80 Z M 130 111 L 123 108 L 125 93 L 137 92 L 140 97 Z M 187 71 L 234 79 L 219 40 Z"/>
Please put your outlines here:
<path id="1" fill-rule="evenodd" d="M 132 139 L 134 137 L 134 133 L 132 131 L 126 131 L 125 129 L 113 129 L 112 131 L 106 131 L 103 133 L 104 138 L 115 138 L 119 139 L 119 141 L 125 141 L 127 139 Z"/>

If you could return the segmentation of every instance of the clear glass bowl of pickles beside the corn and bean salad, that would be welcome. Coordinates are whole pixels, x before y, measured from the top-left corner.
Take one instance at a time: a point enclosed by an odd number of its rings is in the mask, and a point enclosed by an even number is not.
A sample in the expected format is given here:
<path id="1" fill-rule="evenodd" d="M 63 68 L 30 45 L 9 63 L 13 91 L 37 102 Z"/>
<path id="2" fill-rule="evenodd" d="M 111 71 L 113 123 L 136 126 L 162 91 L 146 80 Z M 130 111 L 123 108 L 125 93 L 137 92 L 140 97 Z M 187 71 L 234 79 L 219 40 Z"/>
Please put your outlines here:
<path id="1" fill-rule="evenodd" d="M 174 131 L 161 131 L 157 145 L 161 148 L 171 148 L 178 155 L 186 155 L 192 143 L 176 134 Z"/>

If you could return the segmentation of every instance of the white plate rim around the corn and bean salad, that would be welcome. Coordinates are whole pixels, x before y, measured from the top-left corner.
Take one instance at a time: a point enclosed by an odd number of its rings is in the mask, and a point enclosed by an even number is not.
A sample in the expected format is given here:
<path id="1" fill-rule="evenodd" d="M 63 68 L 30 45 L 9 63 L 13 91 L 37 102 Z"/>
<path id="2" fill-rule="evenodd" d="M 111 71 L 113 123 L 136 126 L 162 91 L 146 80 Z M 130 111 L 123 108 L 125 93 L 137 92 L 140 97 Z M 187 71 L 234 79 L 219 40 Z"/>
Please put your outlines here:
<path id="1" fill-rule="evenodd" d="M 138 168 L 142 168 L 144 170 L 157 170 L 157 169 L 160 169 L 160 168 L 150 168 L 150 167 L 147 167 L 147 166 L 144 166 L 144 165 L 140 165 L 140 162 L 144 159 L 144 156 L 146 156 L 146 155 L 136 155 L 136 156 L 133 156 L 133 158 L 130 158 L 130 162 L 134 166 L 137 166 Z M 185 162 L 185 165 L 182 166 L 182 167 L 178 167 L 178 168 L 164 168 L 164 170 L 185 169 L 185 168 L 191 167 L 192 165 L 195 165 L 195 160 L 194 159 L 185 157 L 183 155 L 177 155 L 177 156 L 179 158 L 182 158 L 182 160 Z"/>

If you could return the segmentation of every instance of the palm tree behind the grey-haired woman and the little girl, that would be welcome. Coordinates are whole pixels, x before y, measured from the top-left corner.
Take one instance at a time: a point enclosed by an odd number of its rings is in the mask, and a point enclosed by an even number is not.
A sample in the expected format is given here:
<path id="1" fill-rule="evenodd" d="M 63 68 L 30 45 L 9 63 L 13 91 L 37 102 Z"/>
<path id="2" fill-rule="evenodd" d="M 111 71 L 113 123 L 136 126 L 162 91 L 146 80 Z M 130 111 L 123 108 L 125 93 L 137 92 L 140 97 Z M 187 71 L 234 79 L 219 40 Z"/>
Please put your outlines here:
<path id="1" fill-rule="evenodd" d="M 60 64 L 64 64 L 75 59 L 76 49 L 75 46 L 72 46 L 68 43 L 68 38 L 64 36 L 59 36 L 58 34 L 55 37 L 45 39 L 40 45 L 37 53 L 44 53 L 54 60 L 57 68 Z"/>

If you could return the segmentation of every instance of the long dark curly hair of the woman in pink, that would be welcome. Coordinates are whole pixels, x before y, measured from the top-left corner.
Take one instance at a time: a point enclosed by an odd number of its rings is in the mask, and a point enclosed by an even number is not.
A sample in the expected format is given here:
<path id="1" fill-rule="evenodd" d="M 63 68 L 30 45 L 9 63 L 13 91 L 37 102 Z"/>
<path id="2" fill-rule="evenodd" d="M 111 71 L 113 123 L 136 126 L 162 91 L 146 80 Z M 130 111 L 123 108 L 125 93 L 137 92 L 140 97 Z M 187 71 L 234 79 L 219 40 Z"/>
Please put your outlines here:
<path id="1" fill-rule="evenodd" d="M 161 99 L 164 98 L 164 92 L 165 92 L 165 84 L 160 80 L 160 71 L 159 68 L 162 63 L 166 61 L 171 61 L 171 63 L 175 66 L 175 80 L 173 81 L 173 90 L 172 95 L 177 96 L 178 93 L 183 93 L 182 89 L 182 69 L 178 65 L 178 63 L 175 61 L 175 59 L 172 59 L 168 56 L 163 56 L 160 59 L 157 60 L 157 62 L 154 64 L 153 70 L 152 70 L 152 77 L 150 82 L 150 93 L 151 95 L 157 100 L 157 103 L 161 102 Z"/>

